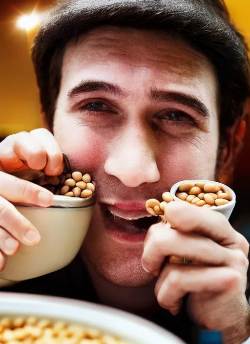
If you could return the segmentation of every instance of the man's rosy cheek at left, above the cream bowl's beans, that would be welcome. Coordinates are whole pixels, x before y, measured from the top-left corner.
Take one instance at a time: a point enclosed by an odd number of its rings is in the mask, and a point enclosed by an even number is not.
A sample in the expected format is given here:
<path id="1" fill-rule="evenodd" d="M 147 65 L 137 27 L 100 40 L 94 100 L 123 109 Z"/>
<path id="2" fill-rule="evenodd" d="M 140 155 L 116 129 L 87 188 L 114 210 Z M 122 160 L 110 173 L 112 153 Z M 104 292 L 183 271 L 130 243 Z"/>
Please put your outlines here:
<path id="1" fill-rule="evenodd" d="M 63 122 L 63 125 L 61 124 Z M 104 166 L 105 138 L 87 126 L 74 125 L 55 120 L 54 135 L 71 163 L 73 170 L 95 173 Z"/>

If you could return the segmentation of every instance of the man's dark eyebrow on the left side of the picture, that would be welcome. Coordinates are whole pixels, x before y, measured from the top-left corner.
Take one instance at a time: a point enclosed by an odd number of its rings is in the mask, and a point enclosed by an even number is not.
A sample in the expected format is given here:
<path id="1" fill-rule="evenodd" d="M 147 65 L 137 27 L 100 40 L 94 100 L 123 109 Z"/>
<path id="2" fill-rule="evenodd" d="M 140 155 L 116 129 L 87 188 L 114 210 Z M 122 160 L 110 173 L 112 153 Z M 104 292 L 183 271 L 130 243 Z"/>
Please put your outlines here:
<path id="1" fill-rule="evenodd" d="M 81 93 L 87 92 L 94 92 L 94 91 L 103 91 L 107 93 L 111 93 L 115 96 L 126 96 L 126 92 L 124 92 L 120 86 L 117 84 L 110 84 L 103 81 L 97 80 L 83 80 L 77 86 L 71 88 L 68 92 L 68 99 L 74 99 Z"/>

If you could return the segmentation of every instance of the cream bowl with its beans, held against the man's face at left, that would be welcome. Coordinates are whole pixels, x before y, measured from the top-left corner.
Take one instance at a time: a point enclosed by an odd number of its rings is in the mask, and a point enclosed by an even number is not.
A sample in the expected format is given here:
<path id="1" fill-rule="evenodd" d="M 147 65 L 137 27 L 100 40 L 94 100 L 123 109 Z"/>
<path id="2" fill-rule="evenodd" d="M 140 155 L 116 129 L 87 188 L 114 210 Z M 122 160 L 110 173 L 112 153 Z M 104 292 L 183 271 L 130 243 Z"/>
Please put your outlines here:
<path id="1" fill-rule="evenodd" d="M 21 244 L 14 256 L 6 257 L 0 285 L 3 280 L 28 280 L 68 265 L 79 252 L 90 224 L 96 185 L 88 173 L 76 171 L 56 177 L 35 173 L 38 178 L 34 182 L 52 191 L 54 202 L 49 208 L 15 204 L 38 229 L 41 241 L 36 246 Z"/>

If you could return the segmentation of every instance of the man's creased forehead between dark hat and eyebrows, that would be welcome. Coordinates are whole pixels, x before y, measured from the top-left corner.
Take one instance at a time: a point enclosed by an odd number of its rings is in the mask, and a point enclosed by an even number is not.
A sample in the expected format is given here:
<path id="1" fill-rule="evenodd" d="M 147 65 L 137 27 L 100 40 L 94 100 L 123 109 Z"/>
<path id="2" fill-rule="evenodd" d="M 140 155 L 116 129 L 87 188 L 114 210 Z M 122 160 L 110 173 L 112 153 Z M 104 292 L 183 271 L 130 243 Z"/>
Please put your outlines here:
<path id="1" fill-rule="evenodd" d="M 63 57 L 62 88 L 97 78 L 130 88 L 153 83 L 150 86 L 179 87 L 196 91 L 197 96 L 207 92 L 217 97 L 216 73 L 208 59 L 161 31 L 104 26 L 83 34 L 77 43 L 69 42 Z"/>

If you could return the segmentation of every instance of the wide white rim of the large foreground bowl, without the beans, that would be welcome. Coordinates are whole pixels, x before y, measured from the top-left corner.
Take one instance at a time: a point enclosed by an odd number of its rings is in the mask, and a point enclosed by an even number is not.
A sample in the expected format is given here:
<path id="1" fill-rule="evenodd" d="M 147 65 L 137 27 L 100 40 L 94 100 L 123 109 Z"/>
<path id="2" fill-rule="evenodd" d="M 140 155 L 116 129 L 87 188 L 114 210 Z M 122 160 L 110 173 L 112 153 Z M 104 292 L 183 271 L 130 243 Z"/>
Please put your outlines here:
<path id="1" fill-rule="evenodd" d="M 36 316 L 96 327 L 132 344 L 184 344 L 163 328 L 132 314 L 84 301 L 0 293 L 0 317 Z"/>

